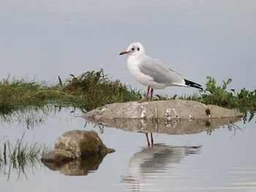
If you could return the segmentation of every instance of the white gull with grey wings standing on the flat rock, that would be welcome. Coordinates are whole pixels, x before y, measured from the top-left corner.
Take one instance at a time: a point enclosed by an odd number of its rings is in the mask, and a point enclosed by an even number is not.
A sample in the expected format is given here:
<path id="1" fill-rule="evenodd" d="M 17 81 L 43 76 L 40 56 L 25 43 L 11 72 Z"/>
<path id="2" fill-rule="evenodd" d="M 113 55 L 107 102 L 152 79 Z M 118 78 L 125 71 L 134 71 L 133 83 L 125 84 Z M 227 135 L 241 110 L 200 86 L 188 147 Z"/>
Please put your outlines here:
<path id="1" fill-rule="evenodd" d="M 148 93 L 151 88 L 151 101 L 153 89 L 162 89 L 167 86 L 193 87 L 203 89 L 201 85 L 184 79 L 181 74 L 168 69 L 157 58 L 146 55 L 145 49 L 140 42 L 133 42 L 126 51 L 119 55 L 128 54 L 127 66 L 132 77 L 142 85 L 148 87 L 146 101 L 148 101 Z"/>

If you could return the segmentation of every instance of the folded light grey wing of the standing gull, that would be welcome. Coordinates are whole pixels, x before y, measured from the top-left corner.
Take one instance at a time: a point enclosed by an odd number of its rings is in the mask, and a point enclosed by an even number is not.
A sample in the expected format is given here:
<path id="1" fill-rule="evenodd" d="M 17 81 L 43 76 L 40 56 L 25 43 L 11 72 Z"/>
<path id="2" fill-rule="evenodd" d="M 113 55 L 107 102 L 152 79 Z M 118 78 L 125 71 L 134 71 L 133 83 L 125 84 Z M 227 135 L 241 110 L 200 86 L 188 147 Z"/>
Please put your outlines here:
<path id="1" fill-rule="evenodd" d="M 154 79 L 154 81 L 165 85 L 180 85 L 186 86 L 184 78 L 181 74 L 168 69 L 157 58 L 151 58 L 145 55 L 138 65 L 140 72 L 146 74 Z"/>

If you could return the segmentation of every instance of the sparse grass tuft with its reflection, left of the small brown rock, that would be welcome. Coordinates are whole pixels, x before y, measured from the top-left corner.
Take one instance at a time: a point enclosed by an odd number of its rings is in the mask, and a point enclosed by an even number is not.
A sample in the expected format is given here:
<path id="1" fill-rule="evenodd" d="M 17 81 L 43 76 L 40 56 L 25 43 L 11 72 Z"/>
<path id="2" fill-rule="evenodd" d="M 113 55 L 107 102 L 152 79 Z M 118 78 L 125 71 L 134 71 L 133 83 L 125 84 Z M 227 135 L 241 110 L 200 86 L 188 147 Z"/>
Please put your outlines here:
<path id="1" fill-rule="evenodd" d="M 33 168 L 36 164 L 41 164 L 40 158 L 46 152 L 44 145 L 34 143 L 29 145 L 23 141 L 23 136 L 14 145 L 9 140 L 0 140 L 0 172 L 7 175 L 8 180 L 12 171 L 16 170 L 18 177 L 21 174 L 26 176 L 26 168 Z"/>

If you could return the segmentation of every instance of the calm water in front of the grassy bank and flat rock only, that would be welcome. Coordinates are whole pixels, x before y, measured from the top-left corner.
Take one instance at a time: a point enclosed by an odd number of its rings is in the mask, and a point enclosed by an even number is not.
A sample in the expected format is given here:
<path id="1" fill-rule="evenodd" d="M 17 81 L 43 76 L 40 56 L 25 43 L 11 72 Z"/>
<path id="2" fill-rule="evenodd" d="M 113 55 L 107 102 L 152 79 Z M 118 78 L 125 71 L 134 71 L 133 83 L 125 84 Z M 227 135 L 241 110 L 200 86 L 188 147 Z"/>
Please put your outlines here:
<path id="1" fill-rule="evenodd" d="M 116 149 L 105 156 L 97 170 L 69 176 L 42 163 L 17 169 L 0 169 L 1 191 L 255 191 L 255 118 L 236 126 L 223 126 L 199 134 L 154 133 L 148 147 L 143 133 L 99 128 L 70 113 L 41 114 L 42 123 L 29 129 L 26 123 L 4 123 L 0 137 L 53 147 L 56 139 L 72 129 L 94 130 L 105 145 Z M 37 113 L 38 114 L 38 113 Z M 36 115 L 34 115 L 36 117 Z M 5 168 L 5 171 L 3 171 Z"/>

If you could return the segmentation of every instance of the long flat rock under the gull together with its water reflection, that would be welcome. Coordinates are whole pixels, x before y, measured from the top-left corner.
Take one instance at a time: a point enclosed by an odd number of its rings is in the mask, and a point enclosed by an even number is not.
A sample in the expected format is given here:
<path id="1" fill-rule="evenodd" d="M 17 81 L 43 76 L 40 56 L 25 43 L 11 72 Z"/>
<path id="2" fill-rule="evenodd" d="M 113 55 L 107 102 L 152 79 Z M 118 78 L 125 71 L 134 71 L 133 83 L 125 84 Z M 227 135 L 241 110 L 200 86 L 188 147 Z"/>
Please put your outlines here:
<path id="1" fill-rule="evenodd" d="M 197 134 L 230 125 L 243 114 L 197 101 L 170 100 L 107 104 L 83 115 L 99 126 L 124 131 Z"/>

